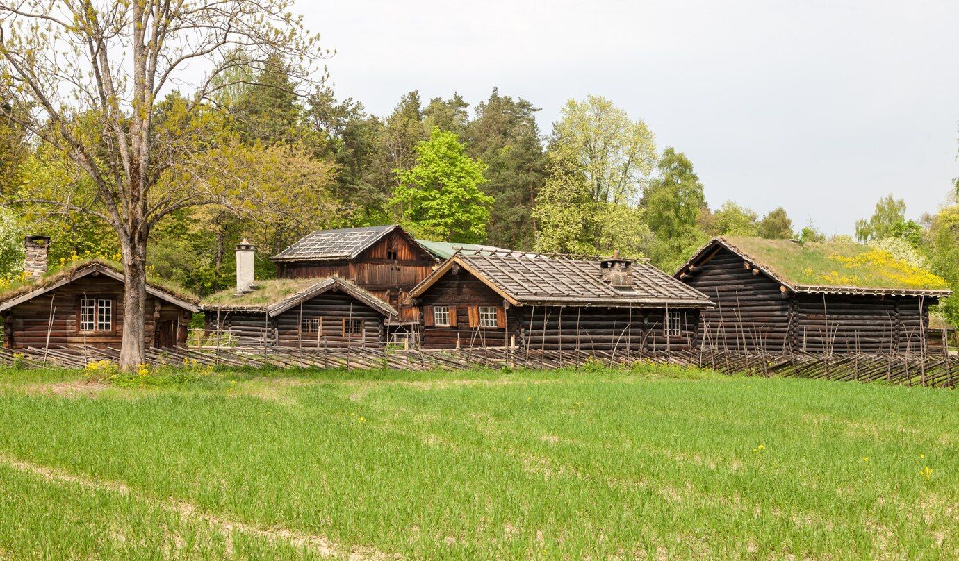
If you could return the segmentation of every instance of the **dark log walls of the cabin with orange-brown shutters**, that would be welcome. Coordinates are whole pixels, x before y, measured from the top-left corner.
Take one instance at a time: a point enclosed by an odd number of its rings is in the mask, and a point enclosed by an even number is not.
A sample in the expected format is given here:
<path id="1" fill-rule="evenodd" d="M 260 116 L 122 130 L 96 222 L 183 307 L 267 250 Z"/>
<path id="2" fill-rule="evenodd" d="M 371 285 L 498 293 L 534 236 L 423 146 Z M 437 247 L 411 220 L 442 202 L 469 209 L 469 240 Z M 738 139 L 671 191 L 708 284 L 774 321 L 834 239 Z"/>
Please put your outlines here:
<path id="1" fill-rule="evenodd" d="M 512 306 L 469 273 L 450 271 L 427 290 L 423 303 L 423 347 L 518 347 L 546 350 L 688 350 L 695 339 L 699 313 L 679 308 L 680 335 L 664 335 L 664 308 Z M 434 306 L 449 306 L 451 325 L 435 325 Z M 479 306 L 496 306 L 497 327 L 481 327 Z"/>

